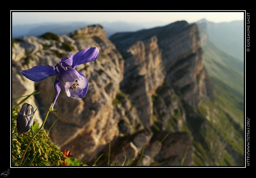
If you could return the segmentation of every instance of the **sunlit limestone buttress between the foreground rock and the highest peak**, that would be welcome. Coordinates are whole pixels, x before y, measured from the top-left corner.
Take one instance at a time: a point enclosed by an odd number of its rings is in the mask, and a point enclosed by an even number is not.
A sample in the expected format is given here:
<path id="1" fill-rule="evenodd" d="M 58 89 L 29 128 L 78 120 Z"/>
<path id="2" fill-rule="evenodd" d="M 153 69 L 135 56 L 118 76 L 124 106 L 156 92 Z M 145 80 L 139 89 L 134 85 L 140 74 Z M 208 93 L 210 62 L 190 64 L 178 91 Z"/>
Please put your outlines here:
<path id="1" fill-rule="evenodd" d="M 151 96 L 163 84 L 165 71 L 162 55 L 155 36 L 136 41 L 127 50 L 129 57 L 125 59 L 124 80 L 120 84 L 138 110 L 144 126 L 151 126 L 153 103 Z"/>

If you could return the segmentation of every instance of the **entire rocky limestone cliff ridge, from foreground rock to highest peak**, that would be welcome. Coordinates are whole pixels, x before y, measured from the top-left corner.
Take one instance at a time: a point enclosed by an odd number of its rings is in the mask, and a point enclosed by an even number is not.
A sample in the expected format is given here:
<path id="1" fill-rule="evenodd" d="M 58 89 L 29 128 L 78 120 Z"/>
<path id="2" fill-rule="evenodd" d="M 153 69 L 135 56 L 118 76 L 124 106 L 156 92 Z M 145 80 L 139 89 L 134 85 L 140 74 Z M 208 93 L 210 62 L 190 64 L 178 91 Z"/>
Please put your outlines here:
<path id="1" fill-rule="evenodd" d="M 52 112 L 45 124 L 49 129 L 66 112 L 50 131 L 61 150 L 70 150 L 89 165 L 105 153 L 97 162 L 100 166 L 106 165 L 110 143 L 113 163 L 122 164 L 127 155 L 136 162 L 142 154 L 140 165 L 178 166 L 188 146 L 184 165 L 193 163 L 192 138 L 184 126 L 190 122 L 192 129 L 201 127 L 204 122 L 193 125 L 198 118 L 194 110 L 205 98 L 214 100 L 197 25 L 180 21 L 109 39 L 100 25 L 51 35 L 24 36 L 12 43 L 12 98 L 40 92 L 27 101 L 38 108 L 38 122 L 52 100 L 54 77 L 32 82 L 19 69 L 55 66 L 70 51 L 86 47 L 100 50 L 96 61 L 77 68 L 89 81 L 86 96 L 67 97 L 62 90 L 54 106 L 58 114 Z M 203 142 L 199 130 L 193 136 Z"/>

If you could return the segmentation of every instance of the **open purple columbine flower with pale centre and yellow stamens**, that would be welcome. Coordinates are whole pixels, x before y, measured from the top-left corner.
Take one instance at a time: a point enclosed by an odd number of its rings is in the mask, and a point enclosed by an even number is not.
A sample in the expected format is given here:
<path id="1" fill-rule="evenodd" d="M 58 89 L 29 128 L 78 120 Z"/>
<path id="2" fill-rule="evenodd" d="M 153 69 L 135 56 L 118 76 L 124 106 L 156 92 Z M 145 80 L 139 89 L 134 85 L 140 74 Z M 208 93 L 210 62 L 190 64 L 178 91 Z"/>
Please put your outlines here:
<path id="1" fill-rule="evenodd" d="M 86 48 L 77 52 L 74 57 L 72 52 L 69 58 L 62 57 L 60 64 L 55 67 L 50 65 L 38 65 L 28 70 L 21 70 L 21 74 L 29 80 L 38 82 L 46 79 L 47 77 L 56 75 L 58 78 L 54 81 L 55 97 L 52 108 L 60 94 L 60 86 L 62 86 L 67 96 L 83 98 L 88 90 L 88 81 L 86 77 L 76 71 L 76 67 L 95 61 L 99 56 L 99 49 L 97 47 Z"/>

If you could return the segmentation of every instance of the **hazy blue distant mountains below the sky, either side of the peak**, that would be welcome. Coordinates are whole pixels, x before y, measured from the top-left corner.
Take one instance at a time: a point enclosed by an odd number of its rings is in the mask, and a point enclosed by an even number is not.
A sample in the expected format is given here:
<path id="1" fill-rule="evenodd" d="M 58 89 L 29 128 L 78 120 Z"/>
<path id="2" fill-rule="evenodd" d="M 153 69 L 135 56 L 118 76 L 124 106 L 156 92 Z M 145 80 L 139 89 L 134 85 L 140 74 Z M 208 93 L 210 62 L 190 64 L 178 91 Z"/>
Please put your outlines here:
<path id="1" fill-rule="evenodd" d="M 171 23 L 171 22 L 170 22 Z M 230 23 L 213 23 L 202 19 L 196 24 L 207 25 L 208 39 L 219 46 L 222 51 L 235 55 L 239 60 L 244 61 L 244 21 L 233 21 Z M 135 32 L 142 29 L 168 25 L 165 22 L 153 21 L 145 23 L 128 22 L 56 22 L 42 24 L 25 24 L 12 26 L 12 38 L 21 36 L 40 36 L 45 32 L 53 32 L 58 35 L 69 34 L 79 28 L 88 25 L 100 24 L 104 27 L 107 37 L 116 32 Z"/>

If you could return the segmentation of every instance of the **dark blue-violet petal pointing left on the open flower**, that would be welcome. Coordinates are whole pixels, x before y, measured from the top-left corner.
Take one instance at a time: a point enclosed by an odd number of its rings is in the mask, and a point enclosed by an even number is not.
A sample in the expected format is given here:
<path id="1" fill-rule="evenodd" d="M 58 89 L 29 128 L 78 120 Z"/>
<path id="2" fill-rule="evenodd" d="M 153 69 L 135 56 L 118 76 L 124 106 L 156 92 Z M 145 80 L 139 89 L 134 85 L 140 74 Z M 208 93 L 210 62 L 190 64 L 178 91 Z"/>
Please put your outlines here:
<path id="1" fill-rule="evenodd" d="M 38 65 L 28 70 L 21 70 L 20 73 L 29 80 L 38 82 L 52 75 L 60 75 L 55 68 L 50 65 Z"/>

